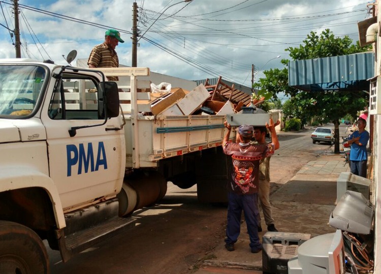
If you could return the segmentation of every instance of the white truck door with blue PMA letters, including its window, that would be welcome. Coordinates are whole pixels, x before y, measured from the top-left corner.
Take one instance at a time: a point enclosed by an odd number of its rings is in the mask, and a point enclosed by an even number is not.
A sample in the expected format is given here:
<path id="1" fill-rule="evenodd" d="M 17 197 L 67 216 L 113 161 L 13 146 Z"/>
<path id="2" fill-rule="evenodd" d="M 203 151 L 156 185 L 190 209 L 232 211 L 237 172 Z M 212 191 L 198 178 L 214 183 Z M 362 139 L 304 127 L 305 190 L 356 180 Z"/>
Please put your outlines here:
<path id="1" fill-rule="evenodd" d="M 63 73 L 45 104 L 49 172 L 57 185 L 63 209 L 115 196 L 121 188 L 125 144 L 121 118 L 98 117 L 98 80 L 88 73 Z M 88 125 L 71 137 L 74 126 Z M 93 126 L 92 125 L 98 125 Z M 106 130 L 107 129 L 107 130 Z"/>

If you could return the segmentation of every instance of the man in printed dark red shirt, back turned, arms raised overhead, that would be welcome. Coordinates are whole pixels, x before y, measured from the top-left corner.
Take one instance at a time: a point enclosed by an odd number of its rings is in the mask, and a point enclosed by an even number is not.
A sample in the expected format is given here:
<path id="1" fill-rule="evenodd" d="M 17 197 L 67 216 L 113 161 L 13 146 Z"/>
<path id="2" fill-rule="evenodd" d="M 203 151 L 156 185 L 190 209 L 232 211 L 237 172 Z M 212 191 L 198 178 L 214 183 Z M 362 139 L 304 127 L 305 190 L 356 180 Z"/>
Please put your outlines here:
<path id="1" fill-rule="evenodd" d="M 254 129 L 250 125 L 241 125 L 238 128 L 239 143 L 229 143 L 231 125 L 226 121 L 228 129 L 223 140 L 224 153 L 232 157 L 233 170 L 228 182 L 228 224 L 226 229 L 225 248 L 234 250 L 240 233 L 241 213 L 244 212 L 247 231 L 250 238 L 252 253 L 262 250 L 258 237 L 258 189 L 259 189 L 259 161 L 274 153 L 273 143 L 251 144 Z M 277 142 L 274 122 L 270 119 L 269 129 L 273 140 Z"/>

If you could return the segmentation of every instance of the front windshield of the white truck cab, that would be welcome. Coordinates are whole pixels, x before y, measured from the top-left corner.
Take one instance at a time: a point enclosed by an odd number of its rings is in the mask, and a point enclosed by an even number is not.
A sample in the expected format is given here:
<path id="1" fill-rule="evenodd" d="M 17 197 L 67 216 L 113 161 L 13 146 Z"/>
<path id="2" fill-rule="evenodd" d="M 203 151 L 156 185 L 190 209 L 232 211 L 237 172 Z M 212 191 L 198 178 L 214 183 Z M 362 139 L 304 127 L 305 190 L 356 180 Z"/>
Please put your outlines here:
<path id="1" fill-rule="evenodd" d="M 0 65 L 0 115 L 17 118 L 32 113 L 45 76 L 41 66 Z"/>

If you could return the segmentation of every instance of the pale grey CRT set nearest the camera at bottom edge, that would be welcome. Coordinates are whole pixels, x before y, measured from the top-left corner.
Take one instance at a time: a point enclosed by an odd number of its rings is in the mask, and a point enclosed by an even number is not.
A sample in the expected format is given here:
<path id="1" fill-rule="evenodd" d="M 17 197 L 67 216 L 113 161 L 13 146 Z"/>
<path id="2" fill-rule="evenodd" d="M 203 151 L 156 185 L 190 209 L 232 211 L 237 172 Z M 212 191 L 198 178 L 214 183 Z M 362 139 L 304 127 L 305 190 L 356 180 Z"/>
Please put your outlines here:
<path id="1" fill-rule="evenodd" d="M 288 262 L 289 274 L 345 274 L 342 233 L 323 234 L 304 242 Z"/>

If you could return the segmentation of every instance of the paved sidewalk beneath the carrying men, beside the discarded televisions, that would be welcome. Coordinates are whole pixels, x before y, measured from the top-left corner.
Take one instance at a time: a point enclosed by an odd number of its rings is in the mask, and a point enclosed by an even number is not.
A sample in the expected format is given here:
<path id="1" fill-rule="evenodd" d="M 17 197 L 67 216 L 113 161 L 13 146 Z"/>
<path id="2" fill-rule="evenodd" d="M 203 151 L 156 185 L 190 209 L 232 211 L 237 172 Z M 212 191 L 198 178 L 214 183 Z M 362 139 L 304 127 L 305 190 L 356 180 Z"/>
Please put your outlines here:
<path id="1" fill-rule="evenodd" d="M 341 172 L 350 172 L 350 167 L 339 154 L 322 155 L 310 161 L 287 183 L 270 197 L 272 214 L 279 232 L 307 233 L 311 237 L 335 232 L 328 225 L 329 216 L 335 208 L 336 180 Z M 261 216 L 262 210 L 260 209 Z M 262 218 L 262 240 L 267 232 Z M 198 274 L 244 274 L 262 273 L 262 252 L 250 253 L 246 223 L 241 225 L 241 234 L 235 251 L 229 252 L 224 241 L 213 251 L 214 259 L 204 261 Z"/>

